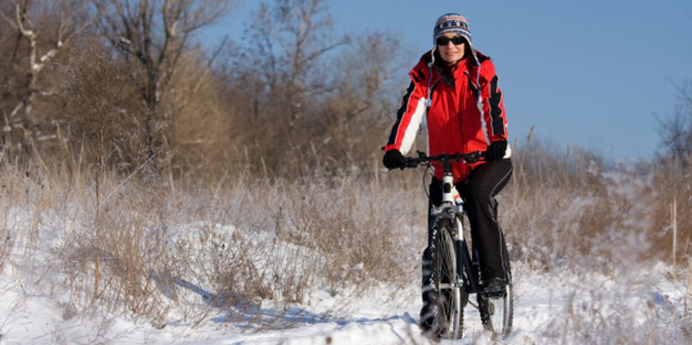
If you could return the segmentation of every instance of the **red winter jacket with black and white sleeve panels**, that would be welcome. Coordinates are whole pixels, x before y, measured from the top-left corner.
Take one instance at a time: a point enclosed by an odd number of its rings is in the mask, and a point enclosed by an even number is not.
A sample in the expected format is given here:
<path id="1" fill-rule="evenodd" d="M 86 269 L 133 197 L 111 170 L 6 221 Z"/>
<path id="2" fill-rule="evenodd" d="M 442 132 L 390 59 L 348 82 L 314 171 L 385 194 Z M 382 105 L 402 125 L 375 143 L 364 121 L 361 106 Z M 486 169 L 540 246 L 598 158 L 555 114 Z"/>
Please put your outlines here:
<path id="1" fill-rule="evenodd" d="M 431 52 L 421 57 L 409 73 L 412 81 L 385 150 L 399 150 L 406 155 L 424 115 L 428 124 L 428 155 L 485 151 L 493 141 L 507 141 L 507 117 L 495 66 L 489 57 L 477 50 L 475 53 L 480 62 L 480 74 L 476 63 L 467 63 L 473 57 L 459 61 L 450 76 L 443 76 L 437 66 L 432 67 L 431 73 L 428 67 Z M 479 84 L 480 101 L 477 97 Z M 428 104 L 429 89 L 432 101 Z M 504 157 L 510 155 L 511 149 L 507 146 Z M 466 178 L 480 164 L 484 162 L 453 164 L 455 181 Z M 442 178 L 441 166 L 435 169 L 435 176 Z"/>

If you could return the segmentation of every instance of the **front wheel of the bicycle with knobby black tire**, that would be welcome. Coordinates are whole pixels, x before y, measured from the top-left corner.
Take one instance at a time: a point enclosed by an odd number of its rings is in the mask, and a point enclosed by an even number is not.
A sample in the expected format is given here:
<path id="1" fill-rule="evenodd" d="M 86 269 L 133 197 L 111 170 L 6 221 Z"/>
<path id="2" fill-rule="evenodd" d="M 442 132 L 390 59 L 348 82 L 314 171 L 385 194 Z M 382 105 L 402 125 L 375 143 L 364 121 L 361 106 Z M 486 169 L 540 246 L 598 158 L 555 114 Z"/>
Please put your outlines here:
<path id="1" fill-rule="evenodd" d="M 436 331 L 437 337 L 459 339 L 464 326 L 464 296 L 466 290 L 459 286 L 454 239 L 451 236 L 452 222 L 438 218 L 432 225 L 435 248 L 432 251 L 432 282 L 437 291 Z"/>

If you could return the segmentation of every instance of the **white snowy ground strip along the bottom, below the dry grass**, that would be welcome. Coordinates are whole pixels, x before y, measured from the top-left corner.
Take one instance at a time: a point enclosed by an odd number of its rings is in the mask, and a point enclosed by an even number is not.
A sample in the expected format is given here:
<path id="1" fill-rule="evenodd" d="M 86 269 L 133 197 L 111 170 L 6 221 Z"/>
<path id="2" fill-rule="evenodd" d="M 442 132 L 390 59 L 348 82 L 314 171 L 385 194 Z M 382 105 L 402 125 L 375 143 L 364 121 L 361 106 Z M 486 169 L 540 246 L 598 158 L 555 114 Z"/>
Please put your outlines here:
<path id="1" fill-rule="evenodd" d="M 456 344 L 682 344 L 686 279 L 658 265 L 623 275 L 537 273 L 516 266 L 513 332 L 493 339 L 477 311 L 466 308 Z M 305 306 L 277 311 L 264 304 L 247 315 L 213 311 L 201 325 L 170 317 L 158 329 L 134 315 L 71 310 L 65 295 L 33 290 L 0 275 L 0 344 L 427 344 L 417 327 L 417 283 L 391 297 L 387 286 L 357 299 L 319 290 Z M 203 304 L 204 293 L 198 291 Z M 344 299 L 348 299 L 344 301 Z M 385 302 L 386 301 L 386 302 Z M 331 315 L 328 311 L 338 310 Z M 253 318 L 243 319 L 244 317 Z M 258 321 L 259 318 L 259 321 Z M 447 343 L 449 341 L 443 341 Z"/>

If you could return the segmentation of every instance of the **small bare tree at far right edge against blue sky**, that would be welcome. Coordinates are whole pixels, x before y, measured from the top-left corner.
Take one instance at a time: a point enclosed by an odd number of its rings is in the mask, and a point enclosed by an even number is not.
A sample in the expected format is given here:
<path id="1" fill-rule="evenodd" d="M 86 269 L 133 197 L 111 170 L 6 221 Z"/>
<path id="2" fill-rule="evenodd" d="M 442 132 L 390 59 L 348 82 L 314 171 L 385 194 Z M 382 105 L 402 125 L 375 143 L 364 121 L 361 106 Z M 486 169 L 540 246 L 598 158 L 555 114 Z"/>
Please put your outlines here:
<path id="1" fill-rule="evenodd" d="M 682 161 L 692 159 L 692 81 L 676 85 L 678 103 L 669 119 L 659 119 L 659 135 L 671 156 Z"/>

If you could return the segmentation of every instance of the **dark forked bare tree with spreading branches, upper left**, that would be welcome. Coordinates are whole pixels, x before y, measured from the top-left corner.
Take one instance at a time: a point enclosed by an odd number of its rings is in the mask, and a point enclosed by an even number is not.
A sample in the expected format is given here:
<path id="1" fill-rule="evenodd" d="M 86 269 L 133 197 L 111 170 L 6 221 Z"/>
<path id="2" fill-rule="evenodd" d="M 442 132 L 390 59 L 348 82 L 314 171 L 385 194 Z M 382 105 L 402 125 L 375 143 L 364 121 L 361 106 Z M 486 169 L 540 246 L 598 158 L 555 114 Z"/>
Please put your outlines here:
<path id="1" fill-rule="evenodd" d="M 229 10 L 229 0 L 94 0 L 102 34 L 131 63 L 146 108 L 147 161 L 165 144 L 163 128 L 172 121 L 161 101 L 199 29 Z M 154 165 L 155 166 L 155 165 Z"/>

